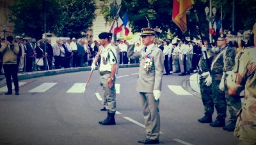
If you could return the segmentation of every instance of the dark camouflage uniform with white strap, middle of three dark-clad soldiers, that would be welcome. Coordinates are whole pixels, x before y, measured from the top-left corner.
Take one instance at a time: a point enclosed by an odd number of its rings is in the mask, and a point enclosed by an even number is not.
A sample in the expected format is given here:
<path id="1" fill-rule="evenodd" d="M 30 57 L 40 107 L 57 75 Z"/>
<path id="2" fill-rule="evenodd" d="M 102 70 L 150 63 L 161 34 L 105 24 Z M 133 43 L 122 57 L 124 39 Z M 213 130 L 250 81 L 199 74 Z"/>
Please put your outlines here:
<path id="1" fill-rule="evenodd" d="M 227 111 L 227 102 L 225 99 L 225 93 L 220 90 L 220 81 L 223 75 L 223 53 L 225 48 L 214 52 L 214 59 L 211 65 L 211 77 L 212 77 L 212 98 L 214 100 L 214 106 L 217 111 L 218 118 L 225 120 Z"/>

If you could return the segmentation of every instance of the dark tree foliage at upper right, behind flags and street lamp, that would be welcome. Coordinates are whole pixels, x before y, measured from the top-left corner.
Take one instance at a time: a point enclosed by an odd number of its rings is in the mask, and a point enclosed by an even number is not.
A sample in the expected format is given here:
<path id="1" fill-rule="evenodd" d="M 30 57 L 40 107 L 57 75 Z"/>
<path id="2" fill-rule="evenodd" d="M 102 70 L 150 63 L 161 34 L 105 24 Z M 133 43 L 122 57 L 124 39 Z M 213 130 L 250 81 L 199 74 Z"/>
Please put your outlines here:
<path id="1" fill-rule="evenodd" d="M 158 34 L 161 38 L 169 36 L 178 36 L 179 38 L 189 37 L 191 39 L 198 38 L 200 32 L 196 22 L 195 8 L 199 19 L 199 24 L 203 36 L 209 36 L 209 22 L 206 20 L 205 7 L 209 7 L 209 1 L 194 0 L 195 5 L 187 13 L 188 30 L 182 34 L 179 27 L 172 21 L 173 0 L 122 0 L 122 11 L 128 11 L 129 24 L 132 32 L 140 32 L 141 28 L 147 27 L 147 19 L 152 27 L 161 27 L 162 34 Z M 221 6 L 223 12 L 223 29 L 231 30 L 232 27 L 232 1 L 233 0 L 214 0 L 212 8 L 216 7 L 217 13 L 215 20 L 219 20 L 221 16 Z M 235 31 L 252 29 L 256 21 L 256 3 L 255 0 L 236 0 L 235 3 Z M 105 14 L 108 12 L 105 11 Z M 104 15 L 105 15 L 104 14 Z M 167 33 L 169 31 L 169 33 Z M 215 38 L 216 39 L 216 38 Z"/>

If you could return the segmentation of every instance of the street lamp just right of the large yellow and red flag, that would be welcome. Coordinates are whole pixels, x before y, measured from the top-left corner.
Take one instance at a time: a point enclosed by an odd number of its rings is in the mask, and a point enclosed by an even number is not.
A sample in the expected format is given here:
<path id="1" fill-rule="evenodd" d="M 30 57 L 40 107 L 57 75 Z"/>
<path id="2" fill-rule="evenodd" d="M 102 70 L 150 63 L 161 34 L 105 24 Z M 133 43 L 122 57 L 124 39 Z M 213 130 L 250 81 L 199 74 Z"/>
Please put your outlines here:
<path id="1" fill-rule="evenodd" d="M 216 14 L 216 8 L 212 8 L 212 1 L 210 0 L 210 8 L 208 8 L 208 6 L 206 6 L 206 8 L 204 9 L 205 11 L 205 15 L 206 15 L 206 19 L 209 21 L 209 29 L 212 29 L 212 22 L 214 21 L 215 18 L 215 14 Z M 209 15 L 208 15 L 209 13 Z M 213 16 L 212 16 L 213 14 Z M 209 33 L 209 39 L 210 39 L 210 43 L 212 43 L 212 34 Z"/>

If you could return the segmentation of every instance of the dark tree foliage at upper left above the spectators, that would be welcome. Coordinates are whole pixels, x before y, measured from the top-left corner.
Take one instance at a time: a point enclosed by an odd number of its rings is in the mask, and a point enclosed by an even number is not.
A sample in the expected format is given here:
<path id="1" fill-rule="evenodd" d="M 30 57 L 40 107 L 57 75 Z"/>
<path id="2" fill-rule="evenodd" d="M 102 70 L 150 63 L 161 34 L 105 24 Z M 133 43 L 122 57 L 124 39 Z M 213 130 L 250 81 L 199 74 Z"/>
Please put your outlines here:
<path id="1" fill-rule="evenodd" d="M 95 3 L 86 0 L 14 0 L 10 10 L 14 33 L 36 39 L 42 38 L 44 26 L 56 36 L 79 38 L 95 18 Z"/>

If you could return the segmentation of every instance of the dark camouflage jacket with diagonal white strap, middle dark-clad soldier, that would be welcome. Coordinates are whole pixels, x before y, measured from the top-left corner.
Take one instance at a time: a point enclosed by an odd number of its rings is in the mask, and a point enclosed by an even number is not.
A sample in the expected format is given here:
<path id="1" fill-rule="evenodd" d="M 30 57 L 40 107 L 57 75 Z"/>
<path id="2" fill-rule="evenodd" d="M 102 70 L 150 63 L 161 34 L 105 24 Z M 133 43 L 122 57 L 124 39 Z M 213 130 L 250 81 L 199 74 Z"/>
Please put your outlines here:
<path id="1" fill-rule="evenodd" d="M 211 77 L 212 80 L 221 80 L 223 75 L 223 53 L 225 53 L 225 48 L 219 49 L 214 52 L 214 57 L 211 64 Z"/>

